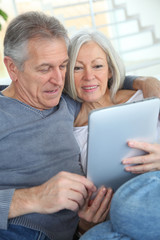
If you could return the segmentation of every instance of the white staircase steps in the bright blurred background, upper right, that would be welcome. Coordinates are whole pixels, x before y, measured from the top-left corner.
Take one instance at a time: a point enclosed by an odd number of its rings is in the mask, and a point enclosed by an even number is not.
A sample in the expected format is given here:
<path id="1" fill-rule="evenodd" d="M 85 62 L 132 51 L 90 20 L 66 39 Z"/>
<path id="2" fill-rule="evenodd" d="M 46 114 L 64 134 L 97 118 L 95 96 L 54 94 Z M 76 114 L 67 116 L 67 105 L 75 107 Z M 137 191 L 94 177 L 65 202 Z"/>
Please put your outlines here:
<path id="1" fill-rule="evenodd" d="M 116 23 L 118 35 L 111 39 L 118 45 L 127 71 L 160 67 L 160 39 L 155 36 L 154 26 L 142 26 L 139 15 L 128 16 L 125 4 L 112 4 L 115 11 L 121 9 L 124 14 L 124 20 Z"/>

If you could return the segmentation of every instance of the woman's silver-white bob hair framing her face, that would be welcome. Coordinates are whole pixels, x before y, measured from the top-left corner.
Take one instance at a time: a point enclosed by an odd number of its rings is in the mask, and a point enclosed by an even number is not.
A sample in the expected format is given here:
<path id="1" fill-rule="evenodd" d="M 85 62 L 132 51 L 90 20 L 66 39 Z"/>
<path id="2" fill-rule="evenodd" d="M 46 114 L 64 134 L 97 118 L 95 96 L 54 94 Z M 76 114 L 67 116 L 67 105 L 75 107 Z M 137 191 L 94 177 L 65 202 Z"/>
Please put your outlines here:
<path id="1" fill-rule="evenodd" d="M 70 61 L 66 74 L 65 92 L 67 92 L 73 99 L 81 101 L 77 96 L 75 88 L 74 67 L 81 46 L 90 41 L 97 43 L 106 53 L 108 66 L 112 72 L 112 78 L 109 80 L 109 88 L 111 92 L 111 98 L 113 99 L 117 90 L 123 85 L 125 68 L 118 53 L 114 50 L 110 40 L 99 31 L 81 31 L 71 38 L 68 49 Z"/>

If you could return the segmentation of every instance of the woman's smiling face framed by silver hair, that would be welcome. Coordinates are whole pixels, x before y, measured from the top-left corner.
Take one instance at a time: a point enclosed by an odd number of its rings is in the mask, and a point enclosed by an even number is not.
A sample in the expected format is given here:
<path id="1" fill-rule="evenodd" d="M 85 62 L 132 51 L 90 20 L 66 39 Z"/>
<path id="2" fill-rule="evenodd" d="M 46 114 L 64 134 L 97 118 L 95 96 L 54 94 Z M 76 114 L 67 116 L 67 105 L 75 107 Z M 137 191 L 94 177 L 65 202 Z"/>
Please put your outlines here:
<path id="1" fill-rule="evenodd" d="M 85 102 L 105 100 L 109 78 L 111 78 L 111 72 L 102 48 L 93 41 L 83 44 L 74 67 L 78 97 Z"/>

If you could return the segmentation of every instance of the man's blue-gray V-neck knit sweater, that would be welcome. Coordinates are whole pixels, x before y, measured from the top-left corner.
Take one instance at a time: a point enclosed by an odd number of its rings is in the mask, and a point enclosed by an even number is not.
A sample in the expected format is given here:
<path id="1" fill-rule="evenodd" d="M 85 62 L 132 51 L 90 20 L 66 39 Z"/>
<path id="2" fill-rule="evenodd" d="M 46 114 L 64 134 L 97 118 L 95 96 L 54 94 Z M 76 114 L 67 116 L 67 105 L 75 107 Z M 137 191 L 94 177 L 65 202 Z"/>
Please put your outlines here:
<path id="1" fill-rule="evenodd" d="M 79 108 L 63 95 L 58 106 L 39 111 L 0 93 L 0 229 L 7 229 L 9 222 L 40 230 L 50 239 L 72 239 L 78 224 L 72 211 L 9 221 L 8 211 L 15 189 L 40 185 L 60 171 L 83 174 L 72 134 Z"/>

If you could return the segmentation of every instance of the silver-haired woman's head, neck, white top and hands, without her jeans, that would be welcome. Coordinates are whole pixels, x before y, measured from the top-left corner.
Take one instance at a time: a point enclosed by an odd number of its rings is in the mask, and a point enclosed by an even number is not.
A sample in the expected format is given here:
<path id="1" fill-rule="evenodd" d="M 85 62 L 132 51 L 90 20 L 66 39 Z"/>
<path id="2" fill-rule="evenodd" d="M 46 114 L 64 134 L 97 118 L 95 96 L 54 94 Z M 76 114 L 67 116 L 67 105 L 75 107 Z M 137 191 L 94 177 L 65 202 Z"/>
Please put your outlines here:
<path id="1" fill-rule="evenodd" d="M 88 114 L 91 110 L 109 107 L 115 104 L 143 99 L 141 90 L 121 90 L 124 82 L 125 68 L 110 41 L 100 32 L 79 32 L 71 39 L 69 46 L 69 66 L 65 91 L 75 100 L 81 102 L 81 110 L 75 120 L 74 134 L 81 149 L 81 164 L 86 172 L 86 150 L 88 134 Z M 159 123 L 158 123 L 159 125 Z M 157 131 L 160 131 L 158 126 Z M 139 148 L 147 155 L 125 159 L 124 164 L 140 164 L 126 167 L 126 171 L 145 173 L 160 169 L 160 145 L 130 141 L 130 147 Z M 79 226 L 87 230 L 88 225 L 106 219 L 112 190 L 102 187 L 95 200 L 88 202 L 79 212 L 86 219 Z M 91 211 L 92 208 L 92 211 Z M 95 214 L 93 209 L 95 210 Z M 88 227 L 90 228 L 90 227 Z"/>

